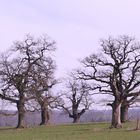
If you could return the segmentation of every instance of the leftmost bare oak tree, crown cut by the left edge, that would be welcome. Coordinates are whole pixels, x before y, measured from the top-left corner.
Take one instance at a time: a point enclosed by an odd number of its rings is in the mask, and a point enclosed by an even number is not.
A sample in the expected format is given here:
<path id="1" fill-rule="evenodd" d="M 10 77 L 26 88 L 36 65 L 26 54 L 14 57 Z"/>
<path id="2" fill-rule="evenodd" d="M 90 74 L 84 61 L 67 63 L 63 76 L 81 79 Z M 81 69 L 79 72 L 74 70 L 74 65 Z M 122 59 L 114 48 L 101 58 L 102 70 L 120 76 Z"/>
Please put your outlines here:
<path id="1" fill-rule="evenodd" d="M 24 127 L 25 102 L 28 96 L 32 68 L 40 65 L 46 54 L 55 50 L 55 42 L 46 36 L 38 39 L 28 35 L 23 41 L 16 41 L 12 49 L 0 60 L 1 99 L 15 103 L 18 110 L 17 128 Z M 48 56 L 48 55 L 47 55 Z"/>

